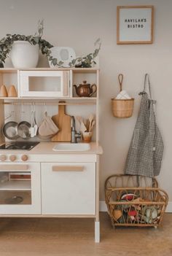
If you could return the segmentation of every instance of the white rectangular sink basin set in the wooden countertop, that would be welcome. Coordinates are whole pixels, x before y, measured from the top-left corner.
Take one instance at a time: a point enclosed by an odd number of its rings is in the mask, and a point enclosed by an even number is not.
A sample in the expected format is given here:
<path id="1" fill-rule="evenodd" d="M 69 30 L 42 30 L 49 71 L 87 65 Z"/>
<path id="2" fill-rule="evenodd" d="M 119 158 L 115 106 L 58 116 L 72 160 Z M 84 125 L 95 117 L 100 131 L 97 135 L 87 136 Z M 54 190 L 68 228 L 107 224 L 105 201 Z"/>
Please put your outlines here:
<path id="1" fill-rule="evenodd" d="M 90 150 L 89 143 L 58 143 L 52 148 L 54 151 L 87 151 Z"/>

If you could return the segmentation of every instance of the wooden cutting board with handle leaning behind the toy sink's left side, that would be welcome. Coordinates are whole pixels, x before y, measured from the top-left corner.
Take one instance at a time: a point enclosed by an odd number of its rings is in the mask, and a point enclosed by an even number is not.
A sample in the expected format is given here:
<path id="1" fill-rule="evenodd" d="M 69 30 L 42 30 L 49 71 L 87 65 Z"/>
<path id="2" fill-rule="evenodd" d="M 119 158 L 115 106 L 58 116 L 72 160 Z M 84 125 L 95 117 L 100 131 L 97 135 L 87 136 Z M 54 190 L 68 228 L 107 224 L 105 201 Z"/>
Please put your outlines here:
<path id="1" fill-rule="evenodd" d="M 64 101 L 59 101 L 59 103 L 64 103 Z M 51 140 L 71 141 L 71 116 L 65 114 L 65 105 L 58 105 L 58 115 L 53 115 L 52 121 L 60 131 Z"/>

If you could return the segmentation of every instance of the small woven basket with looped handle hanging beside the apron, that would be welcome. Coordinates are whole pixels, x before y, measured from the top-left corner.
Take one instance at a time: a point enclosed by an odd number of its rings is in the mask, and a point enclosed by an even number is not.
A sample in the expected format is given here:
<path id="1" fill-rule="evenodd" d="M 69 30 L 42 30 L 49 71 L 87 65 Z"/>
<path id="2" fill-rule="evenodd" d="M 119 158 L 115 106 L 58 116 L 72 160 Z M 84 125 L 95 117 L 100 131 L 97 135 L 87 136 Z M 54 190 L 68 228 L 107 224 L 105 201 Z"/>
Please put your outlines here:
<path id="1" fill-rule="evenodd" d="M 120 91 L 122 91 L 123 74 L 119 74 Z M 117 99 L 112 98 L 112 113 L 114 117 L 128 118 L 133 115 L 134 98 Z"/>

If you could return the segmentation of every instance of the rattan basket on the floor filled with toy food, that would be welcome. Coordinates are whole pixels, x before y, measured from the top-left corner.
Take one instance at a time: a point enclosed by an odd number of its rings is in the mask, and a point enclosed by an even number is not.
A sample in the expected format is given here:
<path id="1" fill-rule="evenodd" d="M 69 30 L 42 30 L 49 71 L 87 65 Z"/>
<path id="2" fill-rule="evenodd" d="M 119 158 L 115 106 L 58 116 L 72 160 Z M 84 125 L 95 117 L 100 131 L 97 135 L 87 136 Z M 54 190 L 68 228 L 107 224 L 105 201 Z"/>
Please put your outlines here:
<path id="1" fill-rule="evenodd" d="M 157 228 L 163 220 L 168 203 L 167 193 L 158 188 L 155 178 L 123 174 L 112 175 L 106 179 L 105 198 L 113 227 Z"/>

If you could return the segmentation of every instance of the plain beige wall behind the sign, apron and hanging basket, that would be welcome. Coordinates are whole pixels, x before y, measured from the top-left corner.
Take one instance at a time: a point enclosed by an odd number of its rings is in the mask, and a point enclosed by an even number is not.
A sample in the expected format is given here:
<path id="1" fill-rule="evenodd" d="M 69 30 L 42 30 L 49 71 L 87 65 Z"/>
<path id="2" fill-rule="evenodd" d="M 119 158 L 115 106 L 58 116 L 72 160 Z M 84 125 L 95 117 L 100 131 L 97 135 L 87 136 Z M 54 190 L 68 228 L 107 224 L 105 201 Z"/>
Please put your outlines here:
<path id="1" fill-rule="evenodd" d="M 117 45 L 117 5 L 155 6 L 153 44 Z M 157 123 L 163 133 L 165 151 L 158 177 L 160 187 L 172 201 L 172 1 L 129 0 L 0 0 L 0 37 L 34 34 L 36 23 L 44 18 L 44 39 L 58 46 L 74 47 L 77 55 L 93 51 L 93 42 L 101 37 L 101 199 L 103 183 L 110 174 L 120 172 L 130 145 L 138 115 L 144 74 L 150 74 L 152 92 L 157 100 Z M 8 65 L 9 62 L 7 62 Z M 44 58 L 40 65 L 47 64 Z M 136 98 L 133 117 L 126 120 L 112 116 L 110 99 L 119 91 L 117 75 L 124 74 L 124 88 Z"/>

